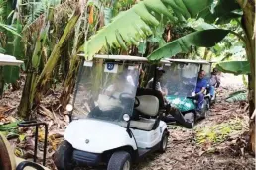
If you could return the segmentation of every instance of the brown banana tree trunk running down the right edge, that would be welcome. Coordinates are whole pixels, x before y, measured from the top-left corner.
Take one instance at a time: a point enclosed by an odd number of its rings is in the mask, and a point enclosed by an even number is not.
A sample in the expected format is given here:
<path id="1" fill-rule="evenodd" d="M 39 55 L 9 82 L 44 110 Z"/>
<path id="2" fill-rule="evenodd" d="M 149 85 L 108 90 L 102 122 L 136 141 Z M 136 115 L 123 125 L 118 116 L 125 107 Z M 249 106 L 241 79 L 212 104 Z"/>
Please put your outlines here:
<path id="1" fill-rule="evenodd" d="M 245 43 L 246 43 L 246 54 L 247 59 L 251 65 L 251 74 L 249 75 L 249 116 L 253 115 L 253 111 L 255 110 L 255 33 L 254 33 L 254 26 L 255 26 L 255 0 L 237 1 L 241 8 L 243 9 L 243 17 L 242 17 L 242 27 L 245 32 Z M 252 124 L 250 124 L 250 147 L 255 154 L 255 118 L 253 118 Z"/>

